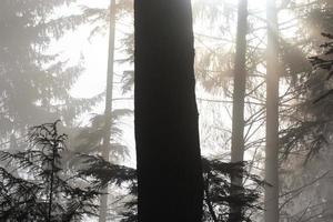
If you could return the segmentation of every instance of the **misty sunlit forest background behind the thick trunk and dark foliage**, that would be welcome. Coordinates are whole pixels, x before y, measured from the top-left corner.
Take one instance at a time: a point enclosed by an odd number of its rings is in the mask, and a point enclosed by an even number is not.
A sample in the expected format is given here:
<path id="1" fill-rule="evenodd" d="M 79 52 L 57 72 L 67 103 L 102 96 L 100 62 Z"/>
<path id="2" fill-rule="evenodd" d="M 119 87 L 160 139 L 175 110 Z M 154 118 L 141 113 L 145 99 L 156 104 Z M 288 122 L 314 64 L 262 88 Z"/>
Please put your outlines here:
<path id="1" fill-rule="evenodd" d="M 81 170 L 78 152 L 134 168 L 132 2 L 14 0 L 0 10 L 1 149 L 26 150 L 30 127 L 59 119 L 68 171 Z M 233 209 L 253 221 L 332 221 L 332 2 L 196 0 L 192 10 L 202 154 L 245 161 L 249 181 L 225 184 L 261 194 L 249 210 L 213 201 L 205 220 L 230 220 Z M 123 185 L 93 201 L 100 220 L 131 219 Z"/>

